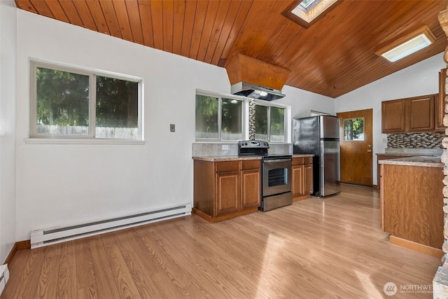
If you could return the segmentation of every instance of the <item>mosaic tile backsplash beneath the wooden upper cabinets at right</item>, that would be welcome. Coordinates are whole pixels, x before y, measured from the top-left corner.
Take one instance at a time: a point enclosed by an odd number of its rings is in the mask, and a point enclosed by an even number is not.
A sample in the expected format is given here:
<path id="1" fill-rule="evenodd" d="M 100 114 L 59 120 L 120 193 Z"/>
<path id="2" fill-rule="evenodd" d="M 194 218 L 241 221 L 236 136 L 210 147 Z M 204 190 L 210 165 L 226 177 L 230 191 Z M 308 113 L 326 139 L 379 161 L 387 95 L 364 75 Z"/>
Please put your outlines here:
<path id="1" fill-rule="evenodd" d="M 387 134 L 388 148 L 442 148 L 441 132 Z"/>

